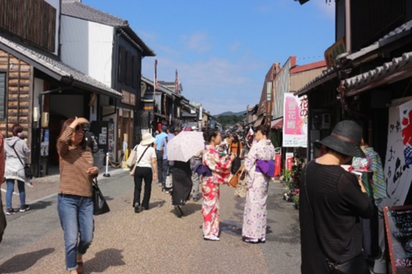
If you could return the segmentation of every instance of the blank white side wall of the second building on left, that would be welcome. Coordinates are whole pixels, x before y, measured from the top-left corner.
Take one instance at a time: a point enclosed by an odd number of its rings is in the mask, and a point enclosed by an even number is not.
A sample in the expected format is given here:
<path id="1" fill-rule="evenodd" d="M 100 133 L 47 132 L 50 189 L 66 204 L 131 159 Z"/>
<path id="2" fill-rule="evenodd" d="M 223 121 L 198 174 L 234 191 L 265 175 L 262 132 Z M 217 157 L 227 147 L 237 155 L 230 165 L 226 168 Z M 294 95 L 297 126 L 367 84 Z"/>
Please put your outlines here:
<path id="1" fill-rule="evenodd" d="M 112 86 L 113 32 L 111 26 L 62 15 L 62 61 Z"/>

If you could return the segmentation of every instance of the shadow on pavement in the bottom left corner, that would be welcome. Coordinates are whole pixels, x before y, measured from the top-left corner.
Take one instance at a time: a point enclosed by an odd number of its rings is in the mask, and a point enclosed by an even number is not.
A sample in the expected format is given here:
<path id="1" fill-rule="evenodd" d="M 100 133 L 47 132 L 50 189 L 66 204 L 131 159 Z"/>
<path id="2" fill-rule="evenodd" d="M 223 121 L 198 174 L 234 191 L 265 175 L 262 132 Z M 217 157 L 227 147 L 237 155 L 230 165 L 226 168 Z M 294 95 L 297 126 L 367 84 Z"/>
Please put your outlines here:
<path id="1" fill-rule="evenodd" d="M 54 252 L 54 248 L 41 249 L 16 255 L 0 265 L 0 273 L 18 273 L 30 269 L 38 260 Z"/>

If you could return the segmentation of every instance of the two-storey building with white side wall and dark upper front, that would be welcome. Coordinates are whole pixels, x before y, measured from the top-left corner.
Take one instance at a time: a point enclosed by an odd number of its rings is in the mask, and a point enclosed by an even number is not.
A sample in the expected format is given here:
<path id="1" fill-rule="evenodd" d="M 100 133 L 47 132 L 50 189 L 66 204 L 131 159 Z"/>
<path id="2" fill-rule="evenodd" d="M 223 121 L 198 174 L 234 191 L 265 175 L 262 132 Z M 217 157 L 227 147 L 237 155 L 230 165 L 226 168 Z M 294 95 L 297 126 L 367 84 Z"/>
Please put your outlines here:
<path id="1" fill-rule="evenodd" d="M 81 0 L 62 1 L 61 25 L 62 60 L 123 95 L 117 100 L 98 96 L 93 105 L 99 109 L 93 121 L 114 123 L 115 136 L 108 142 L 113 142 L 111 152 L 119 161 L 124 142 L 132 149 L 141 138 L 141 60 L 155 53 L 128 21 Z"/>

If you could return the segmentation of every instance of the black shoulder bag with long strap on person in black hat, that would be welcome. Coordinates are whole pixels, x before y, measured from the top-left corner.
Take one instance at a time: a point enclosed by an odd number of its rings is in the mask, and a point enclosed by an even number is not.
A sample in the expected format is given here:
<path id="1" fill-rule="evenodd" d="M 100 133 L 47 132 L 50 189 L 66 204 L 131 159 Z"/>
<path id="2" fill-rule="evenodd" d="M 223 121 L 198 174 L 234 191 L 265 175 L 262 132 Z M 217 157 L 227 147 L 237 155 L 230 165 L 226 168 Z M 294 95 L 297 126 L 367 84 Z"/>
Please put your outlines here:
<path id="1" fill-rule="evenodd" d="M 312 161 L 311 161 L 312 162 Z M 316 234 L 317 242 L 319 247 L 322 249 L 323 255 L 325 256 L 325 261 L 326 264 L 328 265 L 330 274 L 363 274 L 363 273 L 370 273 L 369 267 L 367 266 L 367 262 L 365 260 L 365 256 L 363 256 L 363 253 L 359 254 L 358 256 L 352 258 L 351 260 L 344 262 L 342 264 L 336 264 L 335 262 L 332 262 L 326 254 L 326 252 L 323 250 L 323 247 L 320 243 L 319 240 L 319 235 L 317 234 L 317 229 L 316 229 L 316 223 L 314 221 L 314 213 L 312 210 L 312 206 L 310 206 L 310 201 L 309 201 L 309 195 L 308 195 L 308 188 L 306 188 L 306 172 L 308 170 L 310 162 L 306 164 L 305 166 L 305 171 L 304 171 L 304 188 L 305 188 L 305 194 L 306 194 L 306 200 L 308 201 L 308 206 L 310 209 L 310 212 L 312 212 L 312 221 L 314 225 L 314 231 Z"/>

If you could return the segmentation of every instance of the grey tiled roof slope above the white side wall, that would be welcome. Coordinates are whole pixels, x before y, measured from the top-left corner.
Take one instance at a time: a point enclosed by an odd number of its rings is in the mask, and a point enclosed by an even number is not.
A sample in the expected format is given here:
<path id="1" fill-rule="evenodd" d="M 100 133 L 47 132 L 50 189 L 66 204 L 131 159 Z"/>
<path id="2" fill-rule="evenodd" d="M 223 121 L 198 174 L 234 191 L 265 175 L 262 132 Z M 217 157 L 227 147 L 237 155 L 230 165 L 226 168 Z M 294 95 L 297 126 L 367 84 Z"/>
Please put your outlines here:
<path id="1" fill-rule="evenodd" d="M 122 18 L 102 12 L 89 5 L 84 5 L 78 1 L 63 1 L 62 2 L 62 14 L 81 18 L 87 21 L 93 21 L 104 25 L 111 26 L 126 26 L 128 22 Z"/>

